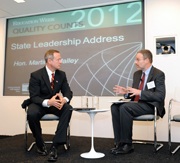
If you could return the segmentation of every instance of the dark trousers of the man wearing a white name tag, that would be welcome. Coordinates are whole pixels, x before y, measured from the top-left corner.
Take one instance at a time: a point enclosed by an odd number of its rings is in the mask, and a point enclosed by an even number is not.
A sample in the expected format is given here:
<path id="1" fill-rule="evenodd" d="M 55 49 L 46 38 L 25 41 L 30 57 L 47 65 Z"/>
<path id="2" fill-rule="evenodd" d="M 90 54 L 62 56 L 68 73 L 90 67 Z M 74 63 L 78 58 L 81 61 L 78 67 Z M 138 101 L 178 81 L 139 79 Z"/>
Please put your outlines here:
<path id="1" fill-rule="evenodd" d="M 111 112 L 115 141 L 132 143 L 133 117 L 153 114 L 154 107 L 147 103 L 124 103 L 112 105 Z"/>

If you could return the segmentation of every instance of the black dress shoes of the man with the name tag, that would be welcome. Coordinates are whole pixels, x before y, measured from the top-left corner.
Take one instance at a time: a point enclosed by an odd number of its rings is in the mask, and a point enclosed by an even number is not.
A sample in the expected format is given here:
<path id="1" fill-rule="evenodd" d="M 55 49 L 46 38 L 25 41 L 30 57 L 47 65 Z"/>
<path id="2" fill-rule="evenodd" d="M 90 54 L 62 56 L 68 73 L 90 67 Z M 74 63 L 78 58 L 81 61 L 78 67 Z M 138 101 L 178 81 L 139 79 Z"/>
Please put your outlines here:
<path id="1" fill-rule="evenodd" d="M 124 144 L 123 146 L 117 148 L 112 153 L 114 155 L 118 154 L 128 154 L 134 151 L 134 146 L 132 144 Z"/>

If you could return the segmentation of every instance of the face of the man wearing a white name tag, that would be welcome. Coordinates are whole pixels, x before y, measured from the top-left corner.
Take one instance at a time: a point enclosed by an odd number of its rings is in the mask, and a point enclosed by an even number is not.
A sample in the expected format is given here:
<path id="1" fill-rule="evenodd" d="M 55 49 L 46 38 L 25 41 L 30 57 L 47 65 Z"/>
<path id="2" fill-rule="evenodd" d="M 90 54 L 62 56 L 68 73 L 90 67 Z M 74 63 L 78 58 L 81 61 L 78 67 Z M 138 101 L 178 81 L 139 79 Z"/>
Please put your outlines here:
<path id="1" fill-rule="evenodd" d="M 138 70 L 145 70 L 146 65 L 147 65 L 147 58 L 144 59 L 144 57 L 141 53 L 137 53 L 134 63 Z"/>

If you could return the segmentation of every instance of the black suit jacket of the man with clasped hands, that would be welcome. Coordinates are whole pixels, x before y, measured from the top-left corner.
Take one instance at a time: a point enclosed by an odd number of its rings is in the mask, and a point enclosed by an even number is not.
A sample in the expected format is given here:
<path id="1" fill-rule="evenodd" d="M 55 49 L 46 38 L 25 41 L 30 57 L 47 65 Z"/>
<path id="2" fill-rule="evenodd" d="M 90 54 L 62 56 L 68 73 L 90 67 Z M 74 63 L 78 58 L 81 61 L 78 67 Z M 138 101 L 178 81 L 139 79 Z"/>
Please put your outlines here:
<path id="1" fill-rule="evenodd" d="M 54 90 L 52 90 L 45 67 L 31 73 L 29 81 L 31 102 L 42 106 L 42 102 L 45 99 L 50 99 L 52 96 L 59 92 L 61 92 L 64 97 L 67 97 L 70 102 L 72 98 L 72 91 L 67 82 L 65 72 L 56 70 L 54 81 Z"/>

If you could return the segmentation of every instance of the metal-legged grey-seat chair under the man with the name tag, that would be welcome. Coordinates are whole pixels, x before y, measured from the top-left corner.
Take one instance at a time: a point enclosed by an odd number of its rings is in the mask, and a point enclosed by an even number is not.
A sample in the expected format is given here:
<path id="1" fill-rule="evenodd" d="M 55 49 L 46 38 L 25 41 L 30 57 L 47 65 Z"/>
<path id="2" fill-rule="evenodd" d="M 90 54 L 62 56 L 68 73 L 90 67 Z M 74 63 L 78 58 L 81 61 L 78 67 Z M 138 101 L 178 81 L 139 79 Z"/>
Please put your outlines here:
<path id="1" fill-rule="evenodd" d="M 147 114 L 147 115 L 141 115 L 138 117 L 134 117 L 134 121 L 153 121 L 154 122 L 154 141 L 148 142 L 148 141 L 133 141 L 133 143 L 140 143 L 140 144 L 151 144 L 154 145 L 154 152 L 157 152 L 163 147 L 162 143 L 157 142 L 157 120 L 159 119 L 159 116 L 157 115 L 157 108 L 155 107 L 154 114 Z"/>

